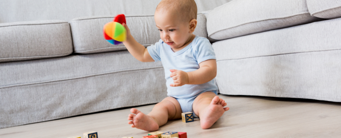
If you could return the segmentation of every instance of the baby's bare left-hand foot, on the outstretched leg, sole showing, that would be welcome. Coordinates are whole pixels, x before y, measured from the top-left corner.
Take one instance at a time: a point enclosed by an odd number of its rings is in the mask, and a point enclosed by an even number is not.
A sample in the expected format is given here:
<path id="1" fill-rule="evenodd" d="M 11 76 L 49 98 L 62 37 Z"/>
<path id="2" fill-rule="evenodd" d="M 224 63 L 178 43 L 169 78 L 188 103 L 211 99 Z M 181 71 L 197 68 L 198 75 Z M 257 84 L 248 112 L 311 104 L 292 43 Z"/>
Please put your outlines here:
<path id="1" fill-rule="evenodd" d="M 143 114 L 141 111 L 135 108 L 130 109 L 130 112 L 133 114 L 128 115 L 128 120 L 132 121 L 129 121 L 128 124 L 132 124 L 132 127 L 146 131 L 155 131 L 159 129 L 158 122 L 156 122 L 154 118 Z"/>

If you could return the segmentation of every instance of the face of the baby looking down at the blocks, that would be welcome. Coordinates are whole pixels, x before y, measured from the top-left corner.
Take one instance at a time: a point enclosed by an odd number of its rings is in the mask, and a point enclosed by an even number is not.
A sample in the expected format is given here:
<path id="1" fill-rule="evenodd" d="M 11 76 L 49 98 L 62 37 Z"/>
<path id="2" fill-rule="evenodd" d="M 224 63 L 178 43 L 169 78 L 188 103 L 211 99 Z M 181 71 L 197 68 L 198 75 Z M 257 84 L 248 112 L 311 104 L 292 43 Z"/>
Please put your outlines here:
<path id="1" fill-rule="evenodd" d="M 181 47 L 190 41 L 192 32 L 189 22 L 178 20 L 176 14 L 155 12 L 154 19 L 162 41 L 173 50 L 182 49 Z"/>

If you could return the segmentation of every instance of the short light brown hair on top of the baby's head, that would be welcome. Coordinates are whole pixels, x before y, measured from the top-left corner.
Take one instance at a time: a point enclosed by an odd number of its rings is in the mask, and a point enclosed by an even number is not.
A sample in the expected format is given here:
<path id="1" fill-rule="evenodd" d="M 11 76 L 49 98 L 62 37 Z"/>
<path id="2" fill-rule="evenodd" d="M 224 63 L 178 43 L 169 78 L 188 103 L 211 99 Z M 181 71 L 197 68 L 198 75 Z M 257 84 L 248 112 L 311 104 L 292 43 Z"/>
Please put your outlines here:
<path id="1" fill-rule="evenodd" d="M 155 12 L 174 12 L 181 21 L 197 19 L 197 4 L 194 0 L 162 0 Z"/>

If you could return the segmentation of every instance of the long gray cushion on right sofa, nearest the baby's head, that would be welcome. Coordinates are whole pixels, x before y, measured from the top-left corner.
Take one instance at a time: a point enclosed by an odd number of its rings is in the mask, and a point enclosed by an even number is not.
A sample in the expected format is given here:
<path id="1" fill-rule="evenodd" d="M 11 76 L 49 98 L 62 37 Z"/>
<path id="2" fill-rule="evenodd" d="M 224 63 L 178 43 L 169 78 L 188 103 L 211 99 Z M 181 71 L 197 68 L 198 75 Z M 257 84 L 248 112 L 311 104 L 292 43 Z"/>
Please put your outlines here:
<path id="1" fill-rule="evenodd" d="M 224 40 L 317 20 L 305 0 L 234 0 L 208 14 L 207 32 L 212 39 Z"/>

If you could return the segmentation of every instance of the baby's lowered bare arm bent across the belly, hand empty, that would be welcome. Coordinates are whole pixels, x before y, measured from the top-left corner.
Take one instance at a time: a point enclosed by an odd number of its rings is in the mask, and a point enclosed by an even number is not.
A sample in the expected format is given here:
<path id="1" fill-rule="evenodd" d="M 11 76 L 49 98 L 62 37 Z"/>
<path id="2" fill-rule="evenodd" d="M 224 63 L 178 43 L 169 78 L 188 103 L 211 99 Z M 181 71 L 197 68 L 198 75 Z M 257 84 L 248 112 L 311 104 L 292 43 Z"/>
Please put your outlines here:
<path id="1" fill-rule="evenodd" d="M 193 72 L 183 72 L 180 70 L 170 70 L 170 77 L 174 84 L 170 86 L 177 87 L 185 84 L 203 84 L 213 80 L 217 76 L 216 59 L 209 59 L 199 63 L 200 68 Z"/>

